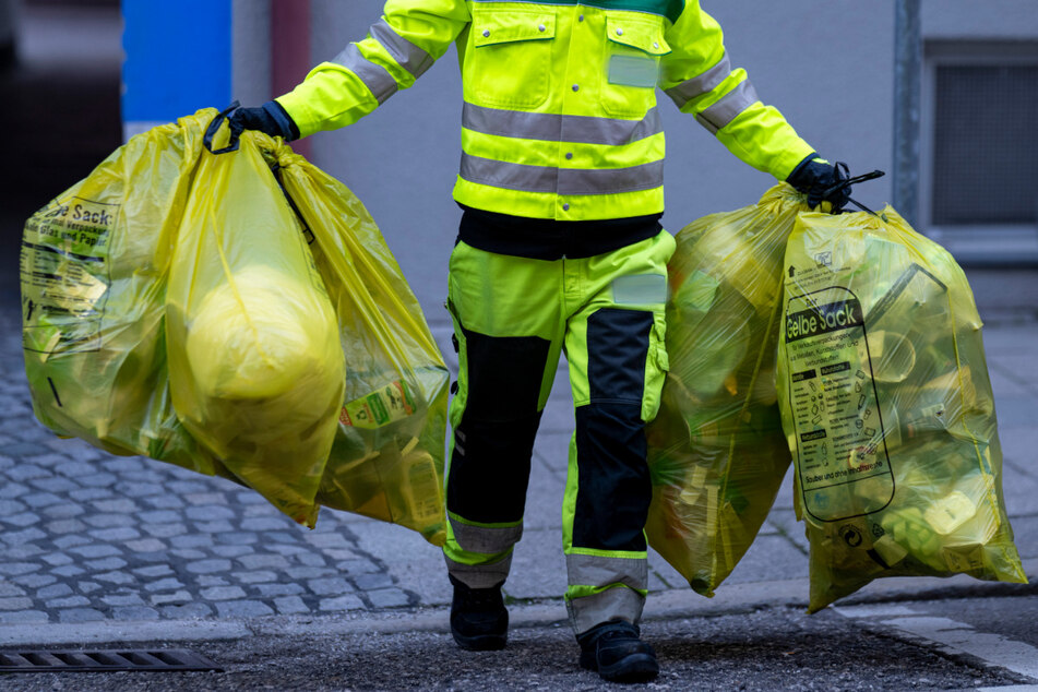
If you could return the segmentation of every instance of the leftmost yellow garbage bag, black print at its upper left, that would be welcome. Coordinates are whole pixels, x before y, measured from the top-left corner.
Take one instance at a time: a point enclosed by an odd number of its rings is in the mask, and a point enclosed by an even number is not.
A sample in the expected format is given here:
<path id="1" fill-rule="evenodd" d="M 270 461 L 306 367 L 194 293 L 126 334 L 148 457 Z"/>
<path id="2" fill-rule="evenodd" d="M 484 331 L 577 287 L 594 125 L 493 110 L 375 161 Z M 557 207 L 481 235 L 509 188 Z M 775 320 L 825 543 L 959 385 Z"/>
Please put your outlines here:
<path id="1" fill-rule="evenodd" d="M 205 128 L 200 111 L 132 138 L 25 224 L 25 372 L 36 417 L 114 454 L 227 475 L 174 413 L 166 281 Z"/>

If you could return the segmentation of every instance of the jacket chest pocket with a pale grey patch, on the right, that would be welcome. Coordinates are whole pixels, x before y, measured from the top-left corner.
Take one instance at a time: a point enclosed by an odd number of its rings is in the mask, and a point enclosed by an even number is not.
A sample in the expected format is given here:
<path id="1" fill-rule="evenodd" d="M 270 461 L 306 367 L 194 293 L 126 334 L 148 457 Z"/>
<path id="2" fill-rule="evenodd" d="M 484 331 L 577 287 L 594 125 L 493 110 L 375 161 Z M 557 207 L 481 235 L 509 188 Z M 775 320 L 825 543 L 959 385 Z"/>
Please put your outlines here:
<path id="1" fill-rule="evenodd" d="M 607 17 L 601 102 L 611 116 L 639 117 L 656 102 L 659 60 L 670 52 L 661 22 Z"/>

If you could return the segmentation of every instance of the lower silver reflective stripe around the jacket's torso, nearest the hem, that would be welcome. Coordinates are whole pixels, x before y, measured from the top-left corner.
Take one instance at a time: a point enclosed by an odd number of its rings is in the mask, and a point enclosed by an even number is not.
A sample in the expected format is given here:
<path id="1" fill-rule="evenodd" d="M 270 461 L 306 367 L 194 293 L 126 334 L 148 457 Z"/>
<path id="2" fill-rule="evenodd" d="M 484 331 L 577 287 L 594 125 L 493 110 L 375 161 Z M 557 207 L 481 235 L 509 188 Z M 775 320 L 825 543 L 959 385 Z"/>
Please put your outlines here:
<path id="1" fill-rule="evenodd" d="M 653 190 L 664 183 L 664 162 L 628 168 L 553 168 L 509 164 L 462 154 L 461 177 L 469 182 L 556 194 L 617 194 Z"/>

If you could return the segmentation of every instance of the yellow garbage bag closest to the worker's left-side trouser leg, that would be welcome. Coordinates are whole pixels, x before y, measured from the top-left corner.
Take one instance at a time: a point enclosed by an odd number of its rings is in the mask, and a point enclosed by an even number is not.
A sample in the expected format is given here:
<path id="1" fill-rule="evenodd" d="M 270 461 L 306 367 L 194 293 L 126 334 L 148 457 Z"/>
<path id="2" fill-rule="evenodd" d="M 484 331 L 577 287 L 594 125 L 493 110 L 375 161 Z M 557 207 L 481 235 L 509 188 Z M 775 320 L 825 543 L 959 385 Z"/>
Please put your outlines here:
<path id="1" fill-rule="evenodd" d="M 418 300 L 360 200 L 281 140 L 256 139 L 307 226 L 346 358 L 317 499 L 443 545 L 450 375 Z"/>

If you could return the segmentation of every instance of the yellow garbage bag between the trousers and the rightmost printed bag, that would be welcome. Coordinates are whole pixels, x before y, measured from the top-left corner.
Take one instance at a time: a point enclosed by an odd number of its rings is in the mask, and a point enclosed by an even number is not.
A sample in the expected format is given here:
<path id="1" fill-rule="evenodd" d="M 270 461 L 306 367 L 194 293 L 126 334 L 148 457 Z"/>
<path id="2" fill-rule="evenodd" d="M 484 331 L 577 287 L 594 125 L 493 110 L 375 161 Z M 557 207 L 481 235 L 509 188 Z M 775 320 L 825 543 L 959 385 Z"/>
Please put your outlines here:
<path id="1" fill-rule="evenodd" d="M 789 467 L 775 357 L 786 238 L 807 208 L 776 186 L 683 228 L 668 265 L 670 371 L 647 429 L 646 533 L 707 596 L 756 537 Z"/>

